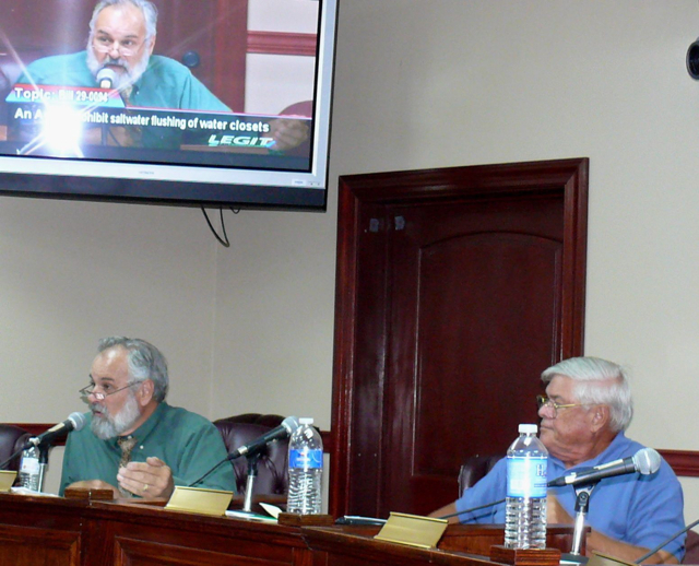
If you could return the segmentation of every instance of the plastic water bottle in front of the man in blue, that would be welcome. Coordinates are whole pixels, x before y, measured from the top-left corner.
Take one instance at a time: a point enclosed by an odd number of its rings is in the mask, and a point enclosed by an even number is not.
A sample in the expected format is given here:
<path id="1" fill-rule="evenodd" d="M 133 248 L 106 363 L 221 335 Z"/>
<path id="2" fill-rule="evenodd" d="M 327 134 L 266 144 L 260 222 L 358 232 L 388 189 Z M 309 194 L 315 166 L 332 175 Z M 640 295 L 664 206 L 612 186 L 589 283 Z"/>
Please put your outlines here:
<path id="1" fill-rule="evenodd" d="M 548 451 L 537 427 L 521 424 L 520 436 L 507 451 L 505 546 L 546 547 L 546 465 Z"/>

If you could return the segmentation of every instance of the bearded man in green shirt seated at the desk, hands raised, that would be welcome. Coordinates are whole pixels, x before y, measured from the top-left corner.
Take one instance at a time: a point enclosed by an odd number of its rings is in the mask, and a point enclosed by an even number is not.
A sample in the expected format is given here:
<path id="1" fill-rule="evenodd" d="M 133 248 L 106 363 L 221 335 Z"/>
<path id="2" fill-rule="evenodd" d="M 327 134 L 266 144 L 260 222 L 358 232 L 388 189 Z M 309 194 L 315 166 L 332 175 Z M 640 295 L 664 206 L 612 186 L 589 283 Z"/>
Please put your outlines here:
<path id="1" fill-rule="evenodd" d="M 67 487 L 108 488 L 116 497 L 168 498 L 227 456 L 206 418 L 165 402 L 167 362 L 153 344 L 125 337 L 99 342 L 81 393 L 87 424 L 66 443 L 60 495 Z M 229 462 L 198 487 L 235 492 Z"/>

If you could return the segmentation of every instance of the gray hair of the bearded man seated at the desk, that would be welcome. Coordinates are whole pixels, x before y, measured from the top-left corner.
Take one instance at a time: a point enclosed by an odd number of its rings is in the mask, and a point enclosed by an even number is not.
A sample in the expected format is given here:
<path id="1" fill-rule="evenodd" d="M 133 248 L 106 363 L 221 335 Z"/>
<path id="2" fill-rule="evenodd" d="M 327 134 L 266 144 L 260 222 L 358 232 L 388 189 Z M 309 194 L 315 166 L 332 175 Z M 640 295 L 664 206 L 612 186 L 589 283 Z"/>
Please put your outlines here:
<path id="1" fill-rule="evenodd" d="M 123 347 L 129 352 L 129 375 L 133 381 L 153 381 L 153 398 L 159 403 L 165 401 L 169 378 L 167 377 L 167 359 L 150 342 L 140 338 L 109 337 L 103 338 L 97 347 L 98 353 L 112 347 Z"/>

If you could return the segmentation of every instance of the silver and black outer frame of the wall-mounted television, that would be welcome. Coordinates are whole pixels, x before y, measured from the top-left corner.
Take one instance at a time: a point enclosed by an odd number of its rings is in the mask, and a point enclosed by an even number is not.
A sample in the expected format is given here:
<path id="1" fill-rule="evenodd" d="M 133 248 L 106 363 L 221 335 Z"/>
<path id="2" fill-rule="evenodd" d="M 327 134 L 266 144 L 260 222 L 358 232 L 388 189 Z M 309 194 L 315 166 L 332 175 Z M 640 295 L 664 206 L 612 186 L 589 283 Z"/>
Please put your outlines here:
<path id="1" fill-rule="evenodd" d="M 0 155 L 0 194 L 183 207 L 324 211 L 337 0 L 318 2 L 310 163 L 306 170 Z M 246 26 L 247 28 L 247 26 Z M 270 157 L 271 163 L 274 157 Z"/>

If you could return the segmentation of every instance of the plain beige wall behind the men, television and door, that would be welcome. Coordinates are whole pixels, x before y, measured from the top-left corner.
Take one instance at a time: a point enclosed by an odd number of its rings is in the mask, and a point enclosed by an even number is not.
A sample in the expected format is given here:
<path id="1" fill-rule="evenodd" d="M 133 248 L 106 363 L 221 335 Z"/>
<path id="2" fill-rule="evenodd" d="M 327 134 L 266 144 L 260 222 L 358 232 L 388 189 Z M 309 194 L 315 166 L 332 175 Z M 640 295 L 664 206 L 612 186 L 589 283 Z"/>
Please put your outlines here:
<path id="1" fill-rule="evenodd" d="M 697 2 L 340 3 L 327 214 L 228 214 L 224 249 L 196 209 L 0 200 L 1 420 L 62 420 L 125 332 L 169 356 L 175 404 L 327 428 L 337 176 L 589 156 L 585 351 L 632 368 L 630 436 L 699 450 Z"/>

